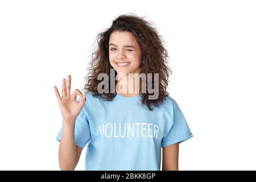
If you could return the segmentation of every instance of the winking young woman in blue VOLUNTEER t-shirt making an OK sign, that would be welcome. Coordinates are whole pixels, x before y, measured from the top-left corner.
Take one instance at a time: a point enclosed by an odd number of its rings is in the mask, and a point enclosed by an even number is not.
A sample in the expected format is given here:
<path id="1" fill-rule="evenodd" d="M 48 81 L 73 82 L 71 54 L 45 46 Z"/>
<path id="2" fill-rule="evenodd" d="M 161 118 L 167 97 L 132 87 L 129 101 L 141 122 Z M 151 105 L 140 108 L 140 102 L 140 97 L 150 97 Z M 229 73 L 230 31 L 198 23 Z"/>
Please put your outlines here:
<path id="1" fill-rule="evenodd" d="M 120 15 L 97 42 L 84 94 L 71 94 L 70 75 L 62 96 L 55 86 L 60 169 L 75 169 L 88 144 L 85 170 L 160 170 L 162 148 L 162 169 L 178 170 L 179 143 L 193 135 L 166 92 L 171 69 L 157 31 L 141 17 Z"/>

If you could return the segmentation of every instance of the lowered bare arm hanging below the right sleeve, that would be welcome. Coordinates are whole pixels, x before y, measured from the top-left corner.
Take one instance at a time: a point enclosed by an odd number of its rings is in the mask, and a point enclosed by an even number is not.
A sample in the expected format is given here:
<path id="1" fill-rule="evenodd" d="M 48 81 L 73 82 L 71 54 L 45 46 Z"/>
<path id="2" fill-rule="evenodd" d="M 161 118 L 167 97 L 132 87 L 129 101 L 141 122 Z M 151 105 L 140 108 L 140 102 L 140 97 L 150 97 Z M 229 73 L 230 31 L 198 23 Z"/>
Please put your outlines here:
<path id="1" fill-rule="evenodd" d="M 163 147 L 163 171 L 178 171 L 179 143 Z"/>

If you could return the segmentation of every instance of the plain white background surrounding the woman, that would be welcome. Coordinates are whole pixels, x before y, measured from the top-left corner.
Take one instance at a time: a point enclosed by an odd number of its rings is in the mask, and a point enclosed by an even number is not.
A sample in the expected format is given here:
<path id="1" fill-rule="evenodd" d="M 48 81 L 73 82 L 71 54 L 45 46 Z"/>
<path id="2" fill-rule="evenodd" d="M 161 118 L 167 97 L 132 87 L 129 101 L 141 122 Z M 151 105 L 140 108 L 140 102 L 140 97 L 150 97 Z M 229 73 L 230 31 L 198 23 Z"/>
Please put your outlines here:
<path id="1" fill-rule="evenodd" d="M 255 9 L 255 1 L 0 1 L 0 169 L 59 170 L 53 85 L 70 74 L 81 90 L 97 34 L 135 13 L 163 36 L 168 90 L 194 135 L 180 144 L 179 169 L 255 170 Z"/>

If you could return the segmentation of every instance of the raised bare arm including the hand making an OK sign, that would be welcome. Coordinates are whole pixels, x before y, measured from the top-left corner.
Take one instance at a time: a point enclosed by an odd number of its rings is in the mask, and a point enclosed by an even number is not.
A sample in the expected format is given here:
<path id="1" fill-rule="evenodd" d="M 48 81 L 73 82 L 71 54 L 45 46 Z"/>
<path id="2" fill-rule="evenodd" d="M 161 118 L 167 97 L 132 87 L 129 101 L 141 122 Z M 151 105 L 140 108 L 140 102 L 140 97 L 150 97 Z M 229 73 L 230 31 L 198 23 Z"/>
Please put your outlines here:
<path id="1" fill-rule="evenodd" d="M 63 116 L 59 165 L 61 170 L 74 170 L 82 152 L 82 148 L 75 144 L 75 121 L 85 104 L 86 96 L 82 95 L 79 89 L 75 89 L 71 94 L 71 75 L 68 76 L 67 86 L 65 78 L 63 79 L 62 97 L 56 86 L 54 86 L 54 89 Z M 77 95 L 81 97 L 80 102 L 76 100 Z"/>

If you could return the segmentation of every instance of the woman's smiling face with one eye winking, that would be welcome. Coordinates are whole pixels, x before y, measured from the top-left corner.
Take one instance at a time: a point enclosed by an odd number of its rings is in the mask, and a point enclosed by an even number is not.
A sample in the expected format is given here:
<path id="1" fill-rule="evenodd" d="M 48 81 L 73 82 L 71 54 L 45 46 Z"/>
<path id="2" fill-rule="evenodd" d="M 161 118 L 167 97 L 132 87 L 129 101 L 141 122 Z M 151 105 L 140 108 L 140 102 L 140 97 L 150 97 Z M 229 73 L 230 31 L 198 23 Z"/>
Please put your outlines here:
<path id="1" fill-rule="evenodd" d="M 117 73 L 140 73 L 141 47 L 131 32 L 114 31 L 110 35 L 109 61 Z"/>

